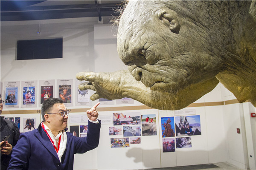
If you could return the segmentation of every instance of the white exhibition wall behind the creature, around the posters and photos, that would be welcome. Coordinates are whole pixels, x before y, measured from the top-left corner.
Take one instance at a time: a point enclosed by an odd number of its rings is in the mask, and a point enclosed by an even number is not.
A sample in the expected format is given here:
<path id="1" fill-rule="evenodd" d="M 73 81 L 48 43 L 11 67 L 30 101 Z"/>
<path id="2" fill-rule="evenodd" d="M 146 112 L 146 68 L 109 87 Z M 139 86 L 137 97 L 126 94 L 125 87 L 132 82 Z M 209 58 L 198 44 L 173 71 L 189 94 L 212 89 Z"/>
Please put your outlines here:
<path id="1" fill-rule="evenodd" d="M 41 33 L 38 35 L 39 24 Z M 99 25 L 97 18 L 1 22 L 1 82 L 75 79 L 76 73 L 80 71 L 112 72 L 127 69 L 118 57 L 114 35 L 116 35 L 116 28 L 112 28 L 108 24 Z M 62 59 L 15 60 L 17 40 L 49 37 L 63 37 Z M 47 68 L 45 67 L 46 63 Z M 219 102 L 230 99 L 235 99 L 233 94 L 227 91 L 223 85 L 218 84 L 212 92 L 204 95 L 195 103 Z M 94 103 L 91 102 L 90 106 Z M 143 104 L 134 101 L 134 104 L 129 105 Z M 195 109 L 197 115 L 200 115 L 202 135 L 192 136 L 192 147 L 176 149 L 175 153 L 162 152 L 162 138 L 159 135 L 161 132 L 160 118 L 175 116 L 174 111 L 137 110 L 141 114 L 157 115 L 157 136 L 142 136 L 141 144 L 131 145 L 131 147 L 111 148 L 111 137 L 108 135 L 110 125 L 102 125 L 99 147 L 84 154 L 77 154 L 74 168 L 77 170 L 142 169 L 224 161 L 244 168 L 247 166 L 247 147 L 246 142 L 244 142 L 245 123 L 240 105 L 192 108 Z M 99 107 L 116 106 L 100 105 Z M 79 107 L 71 106 L 70 108 Z M 40 108 L 33 109 L 40 110 Z M 251 109 L 255 108 L 251 107 Z M 25 108 L 16 110 L 25 110 Z M 102 111 L 100 114 L 111 115 L 113 111 Z M 254 123 L 255 148 L 255 119 L 254 121 L 251 119 L 251 123 Z M 241 134 L 236 133 L 236 128 L 241 129 Z M 85 164 L 86 166 L 84 166 Z"/>

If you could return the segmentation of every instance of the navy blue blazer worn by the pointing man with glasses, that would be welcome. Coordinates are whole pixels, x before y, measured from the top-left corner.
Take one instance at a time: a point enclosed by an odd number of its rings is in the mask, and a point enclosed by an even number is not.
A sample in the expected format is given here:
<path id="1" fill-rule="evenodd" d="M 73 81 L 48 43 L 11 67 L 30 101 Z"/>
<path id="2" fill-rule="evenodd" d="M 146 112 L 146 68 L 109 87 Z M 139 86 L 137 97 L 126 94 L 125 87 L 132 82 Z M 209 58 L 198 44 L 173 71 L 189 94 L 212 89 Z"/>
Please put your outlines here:
<path id="1" fill-rule="evenodd" d="M 98 146 L 100 122 L 88 121 L 87 137 L 79 138 L 67 132 L 67 145 L 61 162 L 41 124 L 38 129 L 22 133 L 12 151 L 7 170 L 73 170 L 75 153 L 85 153 Z"/>

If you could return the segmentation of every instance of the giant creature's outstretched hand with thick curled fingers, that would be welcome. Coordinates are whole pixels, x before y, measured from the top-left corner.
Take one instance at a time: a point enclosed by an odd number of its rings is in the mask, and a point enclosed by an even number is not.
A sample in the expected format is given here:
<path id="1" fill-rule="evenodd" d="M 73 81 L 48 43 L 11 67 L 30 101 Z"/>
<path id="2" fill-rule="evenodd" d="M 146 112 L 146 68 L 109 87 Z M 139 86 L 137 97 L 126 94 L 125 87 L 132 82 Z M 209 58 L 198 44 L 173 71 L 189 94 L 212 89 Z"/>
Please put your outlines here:
<path id="1" fill-rule="evenodd" d="M 113 73 L 94 73 L 94 72 L 80 72 L 76 74 L 79 80 L 89 81 L 79 85 L 80 90 L 93 90 L 95 94 L 90 96 L 91 100 L 99 98 L 104 99 L 122 99 L 122 74 L 123 71 Z"/>

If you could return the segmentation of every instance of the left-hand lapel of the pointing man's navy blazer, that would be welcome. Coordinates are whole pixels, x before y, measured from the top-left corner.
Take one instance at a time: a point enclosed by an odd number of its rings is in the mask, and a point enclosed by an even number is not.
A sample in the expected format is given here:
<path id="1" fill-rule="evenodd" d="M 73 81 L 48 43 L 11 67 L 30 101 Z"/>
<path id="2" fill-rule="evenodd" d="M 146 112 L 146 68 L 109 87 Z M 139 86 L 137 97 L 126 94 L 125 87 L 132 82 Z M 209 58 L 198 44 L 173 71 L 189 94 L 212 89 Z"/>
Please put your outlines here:
<path id="1" fill-rule="evenodd" d="M 44 129 L 41 127 L 41 123 L 38 126 L 38 133 L 34 133 L 34 135 L 44 145 L 44 147 L 46 147 L 47 150 L 49 150 L 49 152 L 52 153 L 52 155 L 54 155 L 59 160 L 58 154 L 57 154 L 56 150 L 54 149 L 52 142 L 50 141 L 49 137 L 45 133 Z"/>

